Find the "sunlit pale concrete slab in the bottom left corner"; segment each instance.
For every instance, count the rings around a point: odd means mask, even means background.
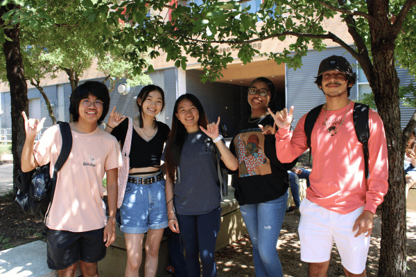
[[[35,242],[0,251],[0,276],[2,277],[55,277],[58,271],[46,265],[46,242]],[[80,267],[76,277],[82,276]]]

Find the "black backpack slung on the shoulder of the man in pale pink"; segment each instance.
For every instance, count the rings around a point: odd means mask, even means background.
[[[22,211],[28,215],[43,217],[46,222],[49,203],[53,200],[55,193],[58,171],[67,161],[72,148],[71,127],[66,122],[58,121],[62,136],[62,148],[58,160],[53,168],[52,178],[49,175],[50,163],[38,166],[30,172],[22,172],[17,176],[17,191],[15,202]]]

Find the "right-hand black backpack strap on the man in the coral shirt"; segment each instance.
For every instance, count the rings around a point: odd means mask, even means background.
[[[365,162],[365,179],[368,179],[369,170],[368,170],[368,139],[370,138],[370,126],[368,125],[368,105],[361,103],[354,104],[354,112],[352,118],[354,119],[354,128],[356,131],[357,139],[359,142],[363,143],[363,152],[364,152],[364,162]]]

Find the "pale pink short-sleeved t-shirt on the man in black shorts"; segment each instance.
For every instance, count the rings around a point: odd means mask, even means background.
[[[62,146],[59,125],[46,129],[35,145],[34,155],[41,166],[58,159]],[[84,232],[105,226],[103,177],[106,170],[123,164],[119,143],[114,136],[96,128],[80,134],[72,131],[72,148],[58,172],[53,203],[46,226],[54,230]]]

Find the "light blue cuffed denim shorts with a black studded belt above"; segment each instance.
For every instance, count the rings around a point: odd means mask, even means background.
[[[123,233],[146,233],[168,226],[165,180],[142,185],[127,183],[120,207]]]

